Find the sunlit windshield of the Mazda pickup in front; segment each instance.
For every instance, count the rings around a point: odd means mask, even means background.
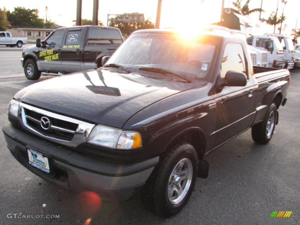
[[[137,33],[116,50],[106,65],[118,64],[146,76],[209,81],[216,43],[211,36],[191,40],[176,33]]]

